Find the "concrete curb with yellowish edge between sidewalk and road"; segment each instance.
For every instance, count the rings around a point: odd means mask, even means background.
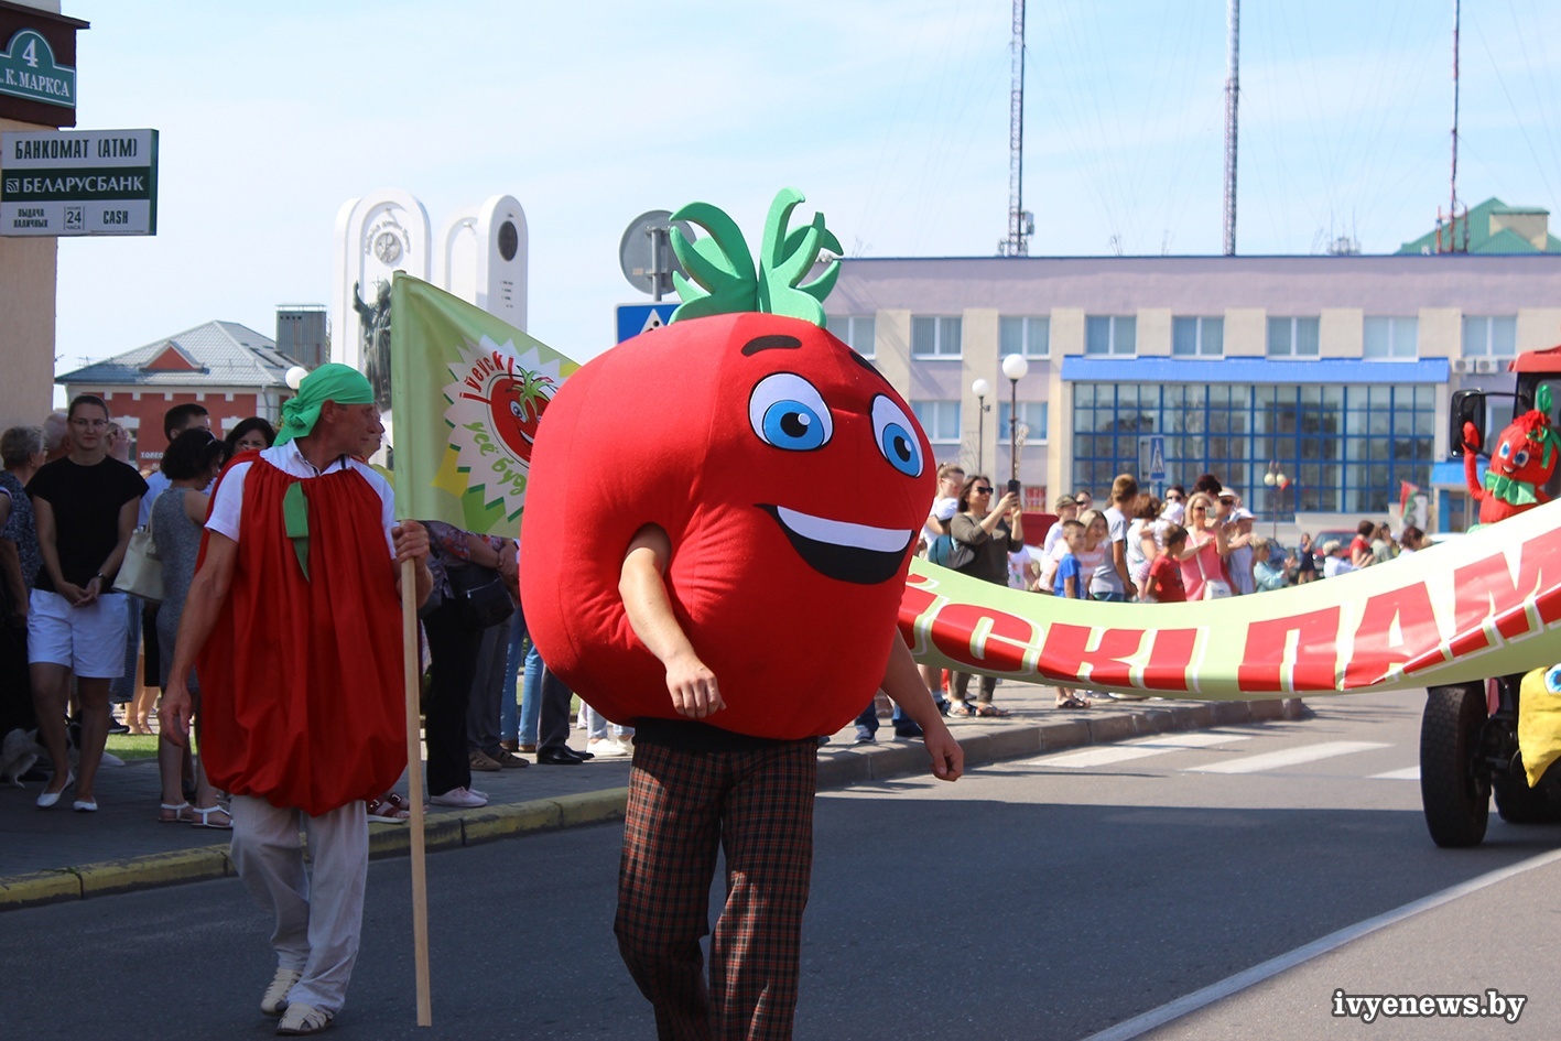
[[[1063,748],[1104,744],[1168,730],[1200,730],[1214,726],[1303,719],[1310,713],[1300,698],[1266,701],[1143,702],[1130,710],[1088,718],[999,726],[960,737],[965,765],[979,766],[1008,759],[1040,755]],[[848,746],[818,763],[818,787],[845,788],[865,780],[887,780],[927,769],[927,754],[918,743]],[[440,813],[425,819],[426,847],[432,851],[479,846],[503,838],[621,821],[628,788],[584,791],[554,799],[534,799],[481,810]],[[368,826],[368,855],[375,860],[406,855],[411,832],[398,824]],[[0,876],[0,913],[61,901],[80,901],[112,893],[153,890],[184,882],[204,882],[236,874],[228,846],[201,846],[167,854],[105,860],[101,863]]]

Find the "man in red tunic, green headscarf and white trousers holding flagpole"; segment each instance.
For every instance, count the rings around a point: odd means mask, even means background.
[[[406,766],[398,565],[417,562],[420,604],[432,576],[428,534],[395,523],[390,485],[356,457],[382,431],[368,381],[322,365],[283,406],[276,445],[229,464],[159,710],[183,743],[198,666],[201,755],[233,793],[233,863],[276,916],[261,1011],[283,1016],[283,1035],[325,1030],[342,1007],[368,874],[364,799]]]

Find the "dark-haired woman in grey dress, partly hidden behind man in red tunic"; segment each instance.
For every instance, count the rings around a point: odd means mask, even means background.
[[[167,690],[173,666],[173,641],[184,616],[184,598],[195,579],[195,559],[200,556],[200,540],[211,512],[206,485],[222,471],[223,446],[211,431],[195,428],[173,439],[162,453],[162,476],[169,487],[151,504],[150,532],[158,557],[162,560],[162,602],[158,606],[158,668],[159,685]],[[200,719],[200,682],[195,671],[189,674],[189,691]],[[200,730],[197,730],[197,735]],[[195,805],[184,799],[184,757],[190,755],[190,771],[195,776]],[[162,824],[194,824],[195,827],[233,829],[233,818],[217,802],[217,790],[206,780],[206,768],[200,755],[189,746],[173,741],[158,743],[158,773],[162,777],[162,804],[158,821]]]

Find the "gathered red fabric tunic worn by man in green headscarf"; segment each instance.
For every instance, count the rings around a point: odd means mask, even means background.
[[[233,587],[195,668],[211,782],[317,816],[406,768],[401,607],[379,495],[353,470],[301,481],[304,577],[283,521],[300,481],[250,467]]]

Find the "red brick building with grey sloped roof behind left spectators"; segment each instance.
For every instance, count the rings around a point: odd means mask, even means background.
[[[131,459],[153,470],[169,446],[162,414],[198,401],[222,437],[240,420],[259,415],[272,425],[292,396],[286,375],[297,362],[275,340],[237,322],[208,322],[133,351],[58,376],[66,396],[95,393],[131,435]]]

